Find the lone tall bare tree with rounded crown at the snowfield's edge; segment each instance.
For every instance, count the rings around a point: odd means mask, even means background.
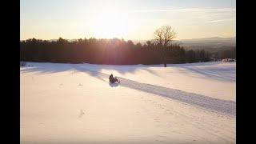
[[[162,48],[162,61],[166,67],[166,47],[170,46],[176,33],[171,26],[162,26],[154,31],[154,42]]]

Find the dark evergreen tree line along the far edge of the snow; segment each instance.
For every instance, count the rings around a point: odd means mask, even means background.
[[[160,48],[152,42],[134,44],[123,39],[78,39],[69,42],[27,39],[20,42],[20,58],[25,62],[62,62],[94,64],[162,64],[207,62],[210,55],[205,50],[184,50],[182,46],[170,45]],[[164,60],[163,60],[164,59]]]

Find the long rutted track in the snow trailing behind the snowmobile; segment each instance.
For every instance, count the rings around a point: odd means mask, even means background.
[[[126,78],[118,78],[120,86],[126,86],[134,90],[142,90],[147,93],[157,94],[166,98],[172,98],[185,102],[192,106],[199,106],[207,110],[214,110],[230,116],[236,115],[236,102],[211,98],[201,94],[193,94],[181,90],[174,90],[162,86],[155,86],[146,83],[132,81]]]

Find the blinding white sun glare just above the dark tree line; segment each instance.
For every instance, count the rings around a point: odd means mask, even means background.
[[[94,19],[97,38],[122,38],[128,31],[126,16],[118,10],[102,10]]]

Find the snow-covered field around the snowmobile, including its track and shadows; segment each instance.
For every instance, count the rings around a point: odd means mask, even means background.
[[[234,62],[27,64],[22,143],[235,143]]]

